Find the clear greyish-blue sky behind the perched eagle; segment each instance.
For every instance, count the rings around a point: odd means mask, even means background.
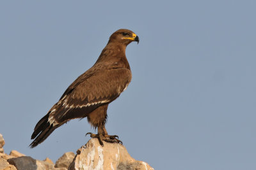
[[[256,1],[1,1],[0,133],[35,159],[76,152],[72,120],[34,149],[33,129],[109,36],[131,29],[132,81],[109,134],[155,169],[256,169]]]

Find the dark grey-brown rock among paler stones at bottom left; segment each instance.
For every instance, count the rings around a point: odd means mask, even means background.
[[[7,160],[9,164],[15,166],[19,170],[36,170],[36,160],[31,157],[17,157]]]

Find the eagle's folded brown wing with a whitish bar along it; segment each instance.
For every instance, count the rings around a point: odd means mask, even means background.
[[[82,74],[49,111],[50,124],[86,117],[99,106],[120,96],[130,81],[131,71],[124,68],[108,69],[90,76]]]

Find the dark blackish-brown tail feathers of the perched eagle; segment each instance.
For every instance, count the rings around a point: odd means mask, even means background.
[[[35,139],[29,146],[34,148],[38,144],[42,143],[57,127],[60,125],[53,125],[48,122],[49,113],[45,115],[36,124],[31,139]]]

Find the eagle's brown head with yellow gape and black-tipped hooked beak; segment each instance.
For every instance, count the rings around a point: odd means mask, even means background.
[[[110,38],[109,42],[122,43],[124,45],[129,45],[132,41],[137,41],[139,43],[139,37],[129,29],[119,29],[114,32]]]

